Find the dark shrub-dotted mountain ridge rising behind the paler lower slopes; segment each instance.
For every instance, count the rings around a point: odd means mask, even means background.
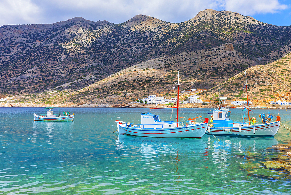
[[[136,15],[121,24],[75,17],[1,26],[0,93],[41,93],[57,86],[75,91],[153,59],[165,74],[180,66],[189,71],[193,87],[210,89],[217,77],[227,80],[284,57],[291,50],[290,29],[215,10],[200,11],[181,23]],[[165,64],[164,56],[172,56],[171,61]]]

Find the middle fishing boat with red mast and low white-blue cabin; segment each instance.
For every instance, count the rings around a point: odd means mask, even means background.
[[[204,122],[195,123],[194,121],[179,122],[179,72],[177,84],[177,117],[176,121],[162,121],[159,115],[141,113],[141,124],[133,124],[116,120],[119,134],[143,137],[158,138],[202,138],[205,134],[208,118]],[[175,88],[175,87],[174,87]],[[157,109],[157,108],[154,108]],[[190,119],[191,120],[191,119]]]

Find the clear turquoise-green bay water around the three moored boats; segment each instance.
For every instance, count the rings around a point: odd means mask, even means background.
[[[0,194],[291,194],[282,172],[266,169],[270,178],[240,167],[272,161],[277,153],[267,148],[291,140],[282,127],[274,138],[144,138],[112,132],[117,116],[137,123],[149,109],[66,111],[74,122],[33,121],[43,108],[0,108]],[[186,118],[210,116],[210,109],[183,111]],[[240,109],[231,111],[239,120]],[[267,112],[255,109],[254,116]],[[291,127],[291,110],[272,112]],[[166,109],[152,113],[170,117]]]

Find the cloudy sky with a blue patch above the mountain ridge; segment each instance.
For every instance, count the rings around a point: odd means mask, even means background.
[[[119,24],[138,14],[179,23],[205,9],[238,12],[277,26],[291,25],[290,0],[0,0],[0,26],[51,24],[74,17]]]

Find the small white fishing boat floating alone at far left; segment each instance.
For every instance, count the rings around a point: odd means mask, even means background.
[[[75,114],[70,115],[70,112],[63,112],[63,115],[59,114],[56,116],[54,115],[54,111],[52,111],[52,107],[46,109],[49,109],[49,111],[47,111],[45,116],[33,113],[34,121],[74,121]]]

